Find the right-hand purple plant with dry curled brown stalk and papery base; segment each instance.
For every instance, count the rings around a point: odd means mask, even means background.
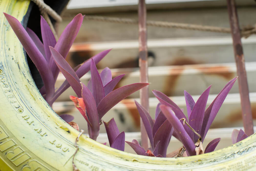
[[[208,87],[202,93],[196,103],[191,95],[188,92],[184,91],[188,111],[188,119],[186,118],[182,110],[165,94],[157,90],[153,90],[154,95],[161,103],[160,109],[174,128],[173,135],[183,143],[188,156],[196,155],[195,149],[196,147],[200,146],[199,143],[197,144],[197,142],[202,143],[204,141],[210,125],[212,124],[223,101],[225,100],[236,79],[237,77],[226,84],[226,86],[220,91],[220,93],[206,110],[205,107],[210,87]],[[193,132],[192,129],[185,123],[190,125],[196,133]],[[219,141],[220,138],[212,140],[205,148],[204,153],[214,151]]]

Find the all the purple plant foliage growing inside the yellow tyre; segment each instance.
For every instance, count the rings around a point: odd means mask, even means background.
[[[71,86],[77,94],[77,97],[70,96],[70,99],[86,120],[90,138],[93,140],[97,139],[100,125],[103,122],[110,146],[124,151],[124,132],[120,133],[114,118],[109,122],[104,122],[102,117],[114,105],[135,91],[147,86],[148,83],[134,83],[113,90],[124,74],[112,79],[112,74],[108,67],[103,69],[99,74],[95,65],[95,63],[98,63],[108,54],[110,49],[95,55],[74,69],[70,67],[65,58],[81,27],[83,21],[82,14],[78,14],[73,18],[58,41],[55,40],[45,19],[41,17],[41,35],[43,42],[40,41],[31,29],[27,28],[26,31],[16,18],[6,13],[4,13],[4,15],[27,54],[37,67],[44,82],[44,86],[40,89],[40,92],[49,105],[51,106],[59,95]],[[91,70],[91,79],[86,86],[79,78],[89,70]],[[62,72],[66,80],[59,89],[55,91],[54,85],[59,71]],[[237,77],[226,84],[206,110],[206,103],[211,86],[201,94],[197,102],[194,101],[187,91],[184,91],[188,118],[186,118],[183,110],[165,94],[153,90],[153,94],[160,102],[156,108],[155,120],[151,118],[149,112],[143,106],[135,101],[138,112],[145,125],[151,147],[144,149],[137,140],[133,140],[132,142],[126,141],[126,143],[139,155],[166,157],[167,147],[173,135],[183,143],[182,149],[180,149],[178,154],[176,153],[177,157],[181,157],[183,154],[184,156],[193,156],[214,151],[220,142],[220,138],[212,140],[206,146],[205,150],[203,149],[202,143],[236,79]],[[72,116],[61,115],[61,117],[72,127],[79,130],[78,125],[72,122]],[[248,136],[242,130],[234,130],[232,132],[233,143],[239,142],[246,137]]]

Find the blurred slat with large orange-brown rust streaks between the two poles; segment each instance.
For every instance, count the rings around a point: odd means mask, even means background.
[[[254,80],[256,73],[255,66],[256,62],[246,63],[250,92],[256,92],[256,82]],[[158,90],[168,96],[183,95],[184,90],[192,95],[201,94],[211,84],[210,93],[218,94],[229,80],[237,76],[235,63],[150,67],[148,73],[149,82],[151,83],[149,90]],[[139,82],[138,68],[112,69],[113,77],[120,74],[126,74],[126,76],[120,81],[117,87]],[[87,85],[89,79],[90,73],[87,73],[80,80]],[[55,87],[59,87],[64,80],[65,77],[59,74]],[[239,92],[237,83],[234,84],[230,92]],[[71,88],[66,90],[58,98],[58,101],[69,100],[69,95],[75,95]],[[129,97],[138,98],[139,92],[135,92]],[[154,97],[151,91],[150,97]]]

